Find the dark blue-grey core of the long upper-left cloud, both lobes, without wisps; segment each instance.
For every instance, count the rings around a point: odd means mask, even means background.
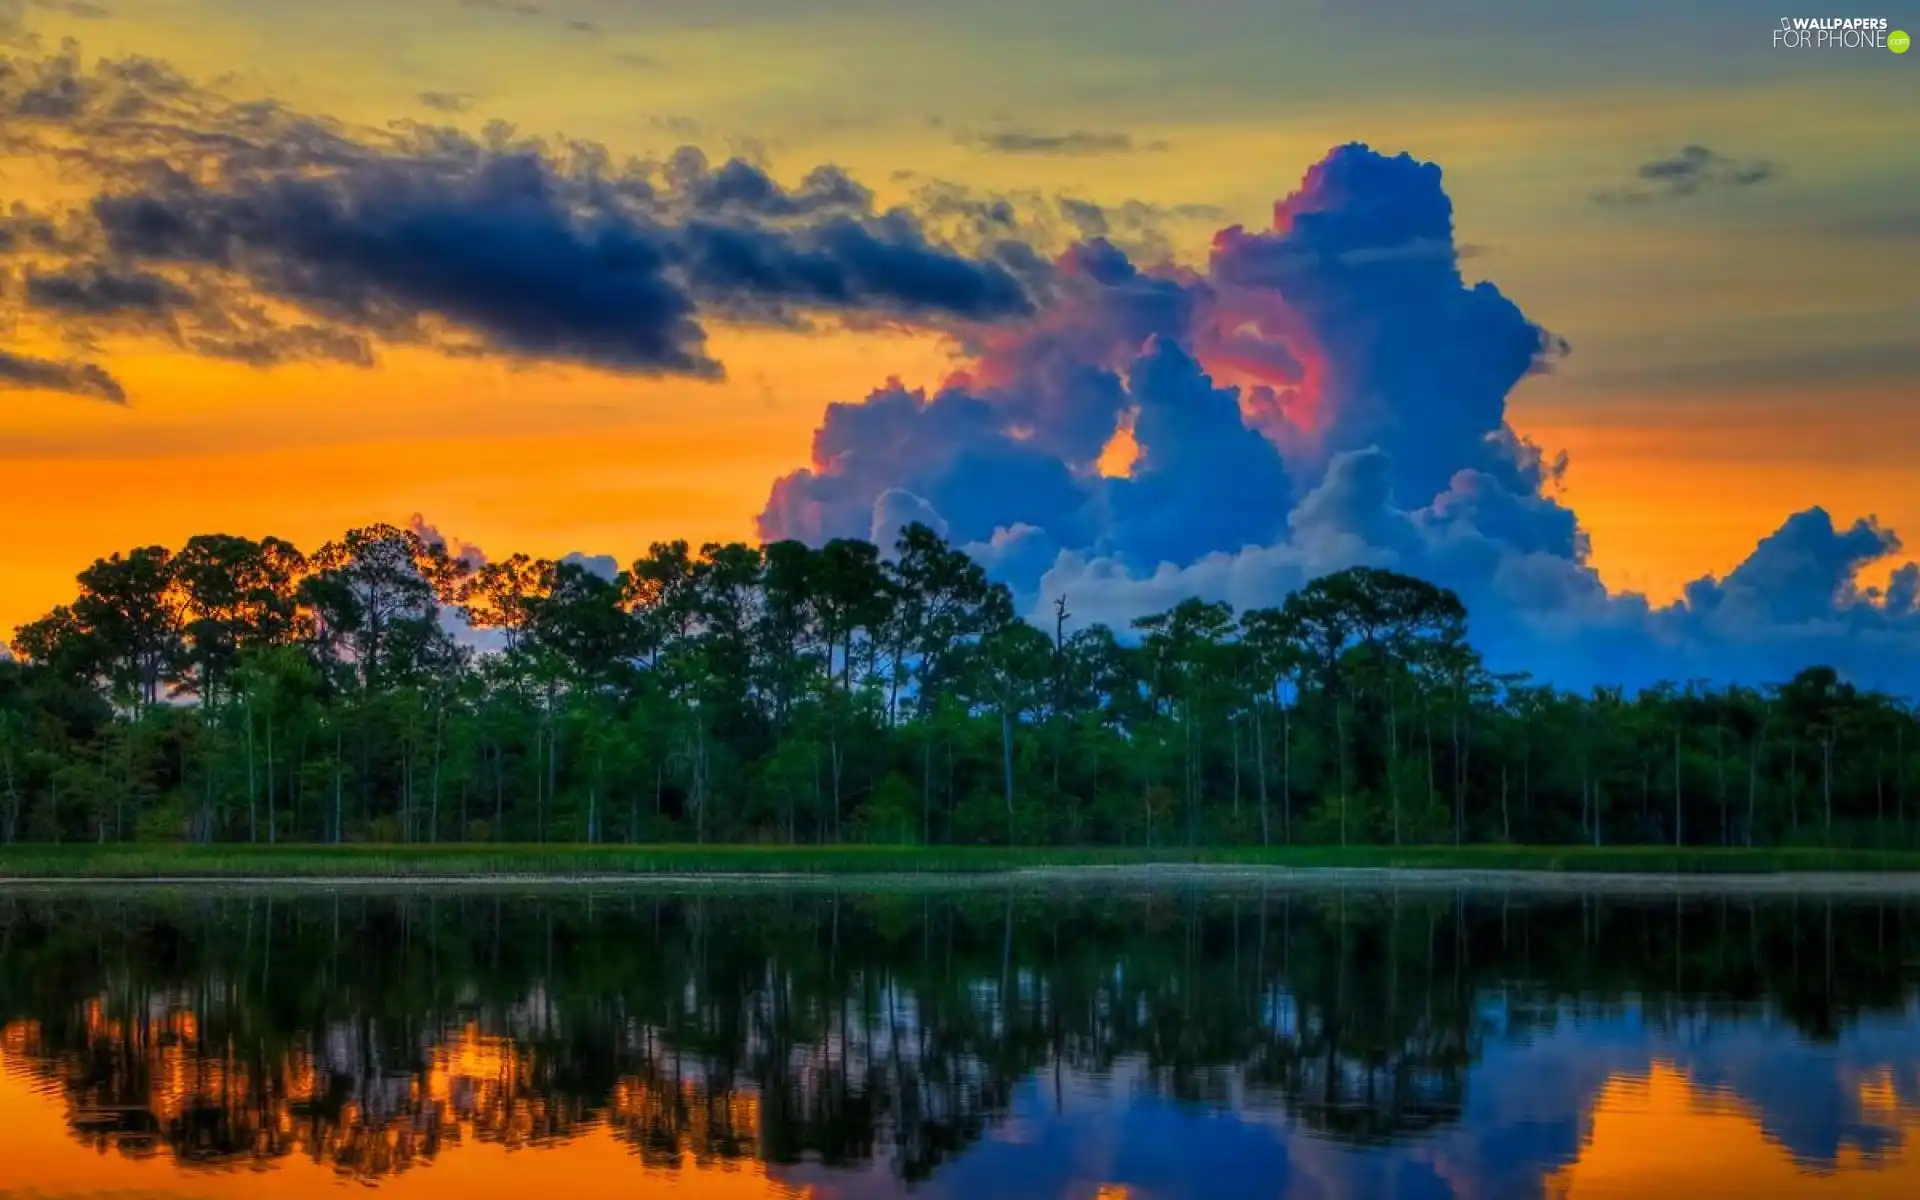
[[[117,259],[238,275],[380,340],[465,336],[470,349],[614,371],[716,374],[703,309],[780,323],[1029,311],[1010,271],[931,244],[904,213],[874,213],[835,171],[787,190],[747,163],[682,156],[662,194],[536,152],[444,167],[372,159],[227,188],[173,179],[104,196],[94,215]]]

